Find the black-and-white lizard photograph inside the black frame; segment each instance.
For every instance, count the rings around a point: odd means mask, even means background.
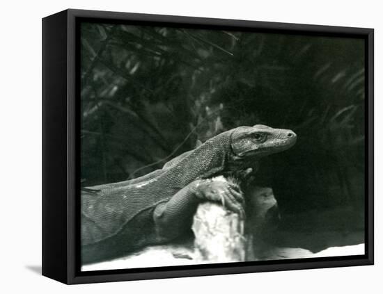
[[[83,20],[81,272],[366,254],[366,40]]]

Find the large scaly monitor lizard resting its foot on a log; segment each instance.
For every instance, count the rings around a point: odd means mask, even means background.
[[[222,202],[244,217],[242,195],[210,178],[251,168],[263,156],[289,149],[293,131],[240,126],[173,158],[137,179],[81,190],[81,263],[123,256],[189,231],[198,203]]]

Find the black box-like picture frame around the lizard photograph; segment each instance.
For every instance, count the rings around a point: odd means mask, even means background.
[[[81,21],[152,24],[238,31],[357,37],[366,48],[366,248],[364,255],[253,261],[127,270],[79,270],[79,31]],[[373,37],[372,28],[253,22],[168,15],[64,10],[42,19],[42,275],[65,284],[160,279],[245,272],[372,265]]]

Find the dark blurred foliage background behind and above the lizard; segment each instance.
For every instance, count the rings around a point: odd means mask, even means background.
[[[81,24],[81,178],[139,177],[226,129],[298,135],[258,184],[282,209],[364,208],[364,40]]]

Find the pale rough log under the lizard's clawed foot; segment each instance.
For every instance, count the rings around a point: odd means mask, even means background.
[[[246,221],[218,203],[205,202],[198,206],[192,224],[196,262],[222,263],[264,258],[269,245],[264,242],[263,235],[270,233],[266,229],[266,214],[276,206],[272,188],[256,186],[247,190],[247,205],[249,215]]]

